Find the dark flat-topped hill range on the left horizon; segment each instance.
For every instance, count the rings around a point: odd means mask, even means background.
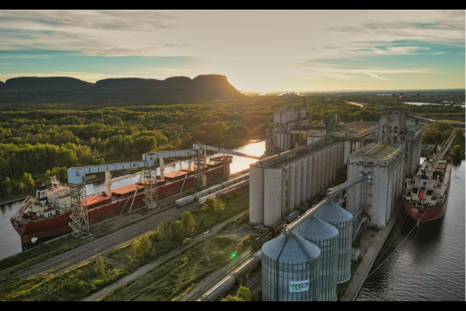
[[[0,84],[0,103],[132,103],[170,104],[227,100],[243,96],[226,76],[209,74],[194,79],[116,78],[89,83],[69,77],[19,77]],[[5,91],[6,90],[6,91]]]

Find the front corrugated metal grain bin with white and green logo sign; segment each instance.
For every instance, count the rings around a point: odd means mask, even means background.
[[[319,248],[293,234],[262,246],[263,301],[317,301]]]

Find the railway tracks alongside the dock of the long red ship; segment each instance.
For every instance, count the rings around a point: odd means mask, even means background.
[[[17,272],[14,276],[25,278],[37,276],[46,272],[56,271],[70,265],[91,259],[94,256],[107,252],[123,242],[136,238],[150,230],[155,229],[159,224],[181,217],[185,211],[195,211],[199,209],[197,202],[188,204],[181,208],[171,208],[165,212],[154,215],[136,224],[106,235],[98,240],[86,243],[67,253],[58,255],[44,262],[33,265],[30,269]]]

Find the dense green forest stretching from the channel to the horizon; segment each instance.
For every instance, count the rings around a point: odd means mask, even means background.
[[[361,109],[346,101],[367,104]],[[237,146],[264,137],[276,108],[297,104],[309,105],[315,123],[334,113],[340,113],[343,122],[378,121],[380,105],[434,119],[465,120],[465,110],[459,106],[413,106],[396,98],[357,94],[309,94],[306,100],[242,96],[169,105],[0,104],[0,195],[22,194],[52,174],[65,182],[66,168],[71,166],[140,159],[146,152],[188,148],[195,141]],[[449,130],[448,124],[429,129],[425,142],[441,142]],[[463,155],[464,136],[458,136],[458,142]]]

